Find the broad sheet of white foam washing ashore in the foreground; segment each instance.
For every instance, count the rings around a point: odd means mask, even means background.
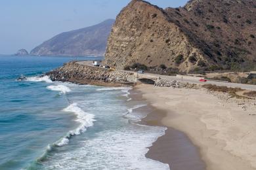
[[[58,152],[45,169],[169,170],[169,165],[145,157],[148,147],[165,134],[165,127],[138,126],[101,131],[79,149]]]

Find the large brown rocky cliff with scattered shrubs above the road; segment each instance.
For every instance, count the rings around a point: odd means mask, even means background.
[[[192,0],[160,9],[133,0],[116,18],[105,63],[184,72],[251,69],[256,64],[256,1]]]

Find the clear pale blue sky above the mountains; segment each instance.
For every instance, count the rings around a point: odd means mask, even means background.
[[[187,0],[148,0],[154,5],[182,7]],[[130,0],[0,0],[0,54],[30,52],[51,37],[115,19]]]

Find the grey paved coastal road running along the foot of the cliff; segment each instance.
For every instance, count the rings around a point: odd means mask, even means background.
[[[81,65],[87,65],[87,66],[92,66],[93,67],[93,63],[91,61],[77,61],[77,63],[81,64]],[[123,71],[123,70],[120,70]],[[123,71],[126,73],[134,73],[137,74],[137,72],[135,71]],[[138,74],[139,78],[150,78],[150,79],[156,79],[161,77],[162,79],[166,79],[166,80],[177,80],[179,82],[188,82],[188,83],[192,83],[192,84],[214,84],[217,86],[227,86],[229,88],[242,88],[244,90],[252,90],[252,91],[256,91],[256,85],[250,85],[250,84],[238,84],[238,83],[232,83],[232,82],[219,82],[219,81],[207,81],[207,82],[200,82],[199,80],[192,80],[190,78],[179,78],[177,76],[165,76],[165,75],[154,75],[151,73],[144,73],[144,74]]]

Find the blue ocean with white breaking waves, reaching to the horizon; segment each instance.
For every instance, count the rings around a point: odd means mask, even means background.
[[[95,58],[0,56],[0,169],[169,169],[145,157],[165,127],[137,123],[131,88],[39,77],[74,59]]]

